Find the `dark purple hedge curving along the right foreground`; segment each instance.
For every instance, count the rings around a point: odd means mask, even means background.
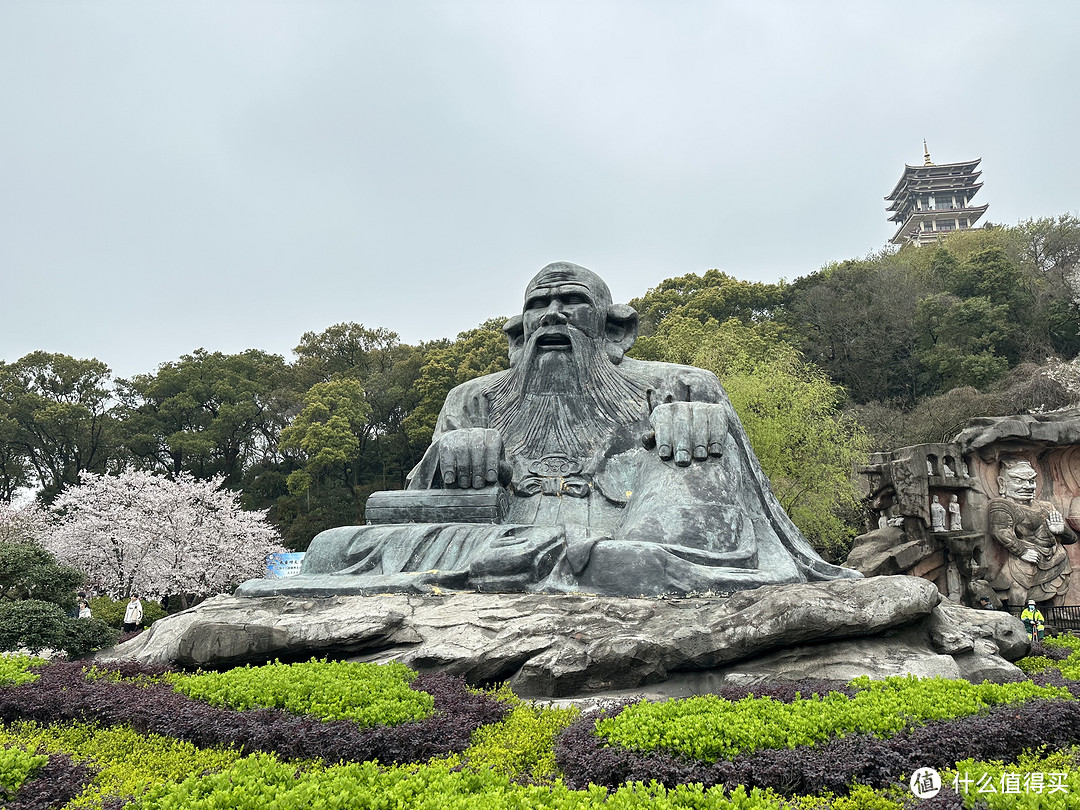
[[[1028,748],[1056,750],[1080,742],[1080,701],[1075,700],[1029,700],[908,728],[888,739],[850,734],[814,746],[762,748],[712,764],[665,751],[642,753],[608,745],[595,733],[596,721],[595,714],[583,717],[556,743],[555,760],[571,786],[656,779],[667,786],[700,782],[772,788],[785,795],[819,791],[843,795],[854,782],[880,788],[924,766],[941,769],[971,757],[1013,761]]]

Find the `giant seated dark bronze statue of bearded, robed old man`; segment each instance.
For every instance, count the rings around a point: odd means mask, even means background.
[[[504,330],[510,369],[449,393],[400,494],[495,491],[504,522],[432,522],[453,519],[440,511],[330,529],[300,576],[238,594],[638,595],[861,576],[821,559],[792,524],[714,375],[625,356],[637,313],[597,275],[549,265]]]

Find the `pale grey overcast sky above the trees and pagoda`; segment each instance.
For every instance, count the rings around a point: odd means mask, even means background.
[[[416,342],[880,249],[904,164],[1080,207],[1080,3],[0,0],[0,360]]]

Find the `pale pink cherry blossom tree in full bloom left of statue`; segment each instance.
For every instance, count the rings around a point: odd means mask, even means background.
[[[262,576],[267,554],[282,549],[266,513],[242,510],[220,484],[83,473],[53,503],[60,517],[45,545],[113,596],[222,593]]]

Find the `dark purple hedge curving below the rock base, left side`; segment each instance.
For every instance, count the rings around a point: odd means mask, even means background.
[[[160,674],[137,665],[123,672]],[[349,720],[321,721],[275,708],[220,708],[180,694],[166,683],[87,679],[80,665],[55,662],[40,670],[32,684],[0,689],[0,720],[126,725],[202,747],[234,744],[291,759],[409,762],[463,751],[476,728],[502,719],[508,711],[448,675],[421,675],[411,686],[433,698],[431,717],[362,729]]]

